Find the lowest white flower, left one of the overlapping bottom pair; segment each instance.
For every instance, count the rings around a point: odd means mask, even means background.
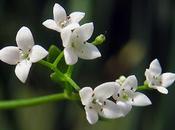
[[[90,87],[79,91],[90,124],[98,121],[98,114],[109,119],[123,116],[121,107],[108,99],[114,94],[115,85],[116,82],[107,82],[97,86],[94,91]]]

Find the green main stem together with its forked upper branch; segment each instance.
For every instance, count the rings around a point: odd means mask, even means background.
[[[63,74],[58,68],[57,64],[63,57],[63,52],[57,57],[55,62],[52,64],[45,60],[39,61],[39,63],[47,68],[53,70],[57,75],[58,78],[65,79],[70,85],[72,85],[77,91],[79,91],[79,86],[69,77],[69,73],[71,73],[71,68],[68,69],[68,75]],[[70,71],[70,72],[69,72]],[[52,94],[47,96],[35,97],[30,99],[17,99],[11,101],[0,101],[0,109],[15,109],[20,107],[29,107],[29,106],[36,106],[50,102],[56,102],[61,100],[79,100],[80,97],[76,93],[59,93],[59,94]]]

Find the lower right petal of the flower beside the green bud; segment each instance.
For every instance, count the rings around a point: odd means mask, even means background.
[[[91,43],[79,45],[78,49],[76,49],[76,53],[78,57],[86,60],[101,57],[101,53],[99,52],[98,48]]]

